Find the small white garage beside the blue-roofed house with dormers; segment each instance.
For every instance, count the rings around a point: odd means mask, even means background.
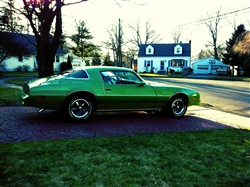
[[[217,74],[217,70],[228,70],[228,65],[215,58],[204,58],[191,63],[194,74]]]

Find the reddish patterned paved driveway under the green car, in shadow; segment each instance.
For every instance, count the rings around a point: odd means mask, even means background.
[[[95,113],[88,121],[65,120],[59,112],[38,113],[31,107],[0,108],[0,142],[59,140],[122,136],[160,132],[231,128],[227,125],[186,115],[179,119],[146,112]]]

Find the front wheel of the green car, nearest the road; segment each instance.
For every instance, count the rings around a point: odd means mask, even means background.
[[[183,96],[176,96],[169,100],[165,112],[170,117],[179,118],[187,111],[187,101]]]

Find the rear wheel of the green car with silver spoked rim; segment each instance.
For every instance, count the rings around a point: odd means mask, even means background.
[[[77,122],[86,121],[93,114],[93,101],[84,95],[73,95],[70,97],[64,110],[67,116]]]

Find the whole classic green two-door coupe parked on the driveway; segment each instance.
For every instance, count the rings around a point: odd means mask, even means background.
[[[24,106],[60,110],[75,121],[84,121],[95,111],[160,111],[182,117],[188,106],[200,103],[195,90],[151,85],[131,69],[105,66],[31,80],[23,85],[21,98]]]

